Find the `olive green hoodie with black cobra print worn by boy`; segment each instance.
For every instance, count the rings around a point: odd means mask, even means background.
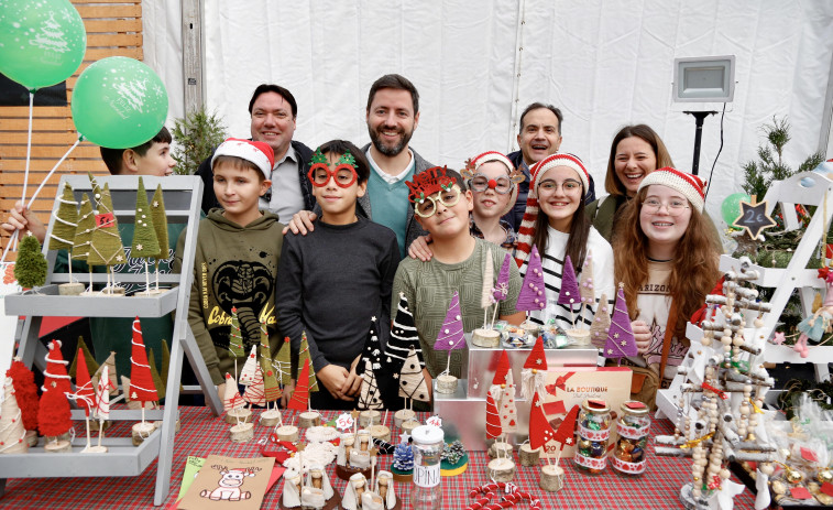
[[[199,223],[188,323],[215,384],[224,382],[226,372],[234,375],[234,358],[228,350],[232,307],[238,311],[246,355],[260,344],[261,321],[266,323],[273,356],[281,346],[275,281],[284,226],[274,213],[262,213],[261,218],[241,227],[215,208]],[[185,236],[179,236],[177,267],[184,242]],[[245,358],[238,360],[238,373],[243,362]]]

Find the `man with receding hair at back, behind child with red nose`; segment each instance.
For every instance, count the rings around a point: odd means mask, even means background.
[[[561,147],[561,123],[563,120],[565,116],[561,110],[544,102],[533,102],[520,113],[520,129],[517,135],[520,150],[511,152],[506,156],[516,169],[524,172],[526,178],[518,184],[515,207],[502,218],[515,231],[520,227],[520,220],[524,218],[524,210],[526,209],[526,198],[529,195],[529,181],[531,181],[529,169],[548,155],[558,152],[558,148]],[[591,175],[584,202],[590,204],[593,200],[595,200],[595,186]]]

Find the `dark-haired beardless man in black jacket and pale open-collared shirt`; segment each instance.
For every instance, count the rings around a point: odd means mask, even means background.
[[[272,187],[260,198],[260,208],[275,213],[286,224],[292,215],[315,207],[313,188],[307,178],[313,150],[293,140],[298,104],[292,93],[280,85],[261,84],[249,101],[252,117],[252,140],[265,142],[274,151]],[[211,158],[200,163],[197,175],[202,178],[202,210],[219,207],[213,192]]]

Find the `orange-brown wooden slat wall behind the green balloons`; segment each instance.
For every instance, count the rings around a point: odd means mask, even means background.
[[[87,30],[87,52],[80,67],[66,80],[66,107],[34,107],[32,115],[32,154],[29,165],[29,199],[50,170],[75,143],[73,115],[69,111],[75,82],[88,65],[108,56],[129,56],[143,59],[142,53],[142,3],[141,0],[72,0],[84,20]],[[21,198],[26,162],[29,107],[0,107],[0,219]],[[48,223],[52,200],[62,175],[107,175],[98,145],[79,144],[62,163],[40,193],[32,210]],[[9,236],[0,232],[0,246],[6,248]],[[14,259],[14,253],[7,257]]]

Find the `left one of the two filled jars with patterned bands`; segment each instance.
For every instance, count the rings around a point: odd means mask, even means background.
[[[573,460],[591,474],[607,467],[607,438],[611,436],[611,408],[600,399],[588,399],[579,413],[579,445]]]

